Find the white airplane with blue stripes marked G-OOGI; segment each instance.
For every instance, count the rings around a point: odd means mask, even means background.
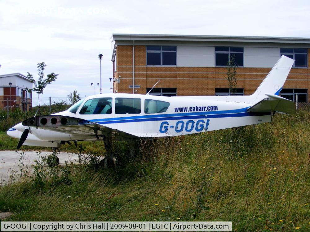
[[[68,110],[29,118],[9,129],[21,145],[104,140],[104,166],[113,164],[112,140],[134,141],[270,122],[275,112],[295,113],[293,101],[278,94],[294,63],[282,56],[250,96],[186,96],[107,93],[87,97]],[[132,153],[132,147],[131,153]]]

